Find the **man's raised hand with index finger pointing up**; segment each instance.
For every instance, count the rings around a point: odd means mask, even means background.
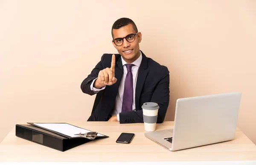
[[[93,87],[99,89],[106,85],[115,84],[117,81],[117,79],[115,78],[115,65],[116,56],[112,55],[111,67],[99,71],[98,78],[96,79],[96,81],[94,81]]]

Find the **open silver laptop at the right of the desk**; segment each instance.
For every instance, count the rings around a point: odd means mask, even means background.
[[[173,129],[145,136],[170,151],[233,140],[240,100],[241,92],[179,98]]]

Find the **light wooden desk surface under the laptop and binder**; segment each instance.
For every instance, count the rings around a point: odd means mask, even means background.
[[[232,141],[169,151],[144,136],[143,123],[67,122],[109,136],[61,152],[15,136],[15,127],[0,143],[0,162],[151,162],[151,161],[256,161],[256,145],[239,129]],[[25,123],[19,123],[25,124]],[[157,124],[157,130],[174,122]],[[131,144],[116,143],[120,133],[135,133]]]

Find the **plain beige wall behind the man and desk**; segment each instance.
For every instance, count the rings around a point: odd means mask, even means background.
[[[21,121],[87,120],[95,96],[80,84],[103,53],[116,53],[120,17],[169,68],[166,120],[177,98],[241,91],[238,127],[256,143],[255,0],[0,0],[0,142]]]

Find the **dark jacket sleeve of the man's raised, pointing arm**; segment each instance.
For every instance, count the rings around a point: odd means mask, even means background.
[[[105,55],[105,54],[104,54]],[[83,93],[94,95],[97,92],[93,92],[90,89],[90,84],[93,82],[95,78],[98,77],[99,71],[101,71],[103,68],[102,61],[104,59],[104,55],[102,55],[101,61],[95,66],[95,68],[91,71],[90,75],[87,76],[87,78],[84,79],[84,81],[81,84],[81,90]]]

